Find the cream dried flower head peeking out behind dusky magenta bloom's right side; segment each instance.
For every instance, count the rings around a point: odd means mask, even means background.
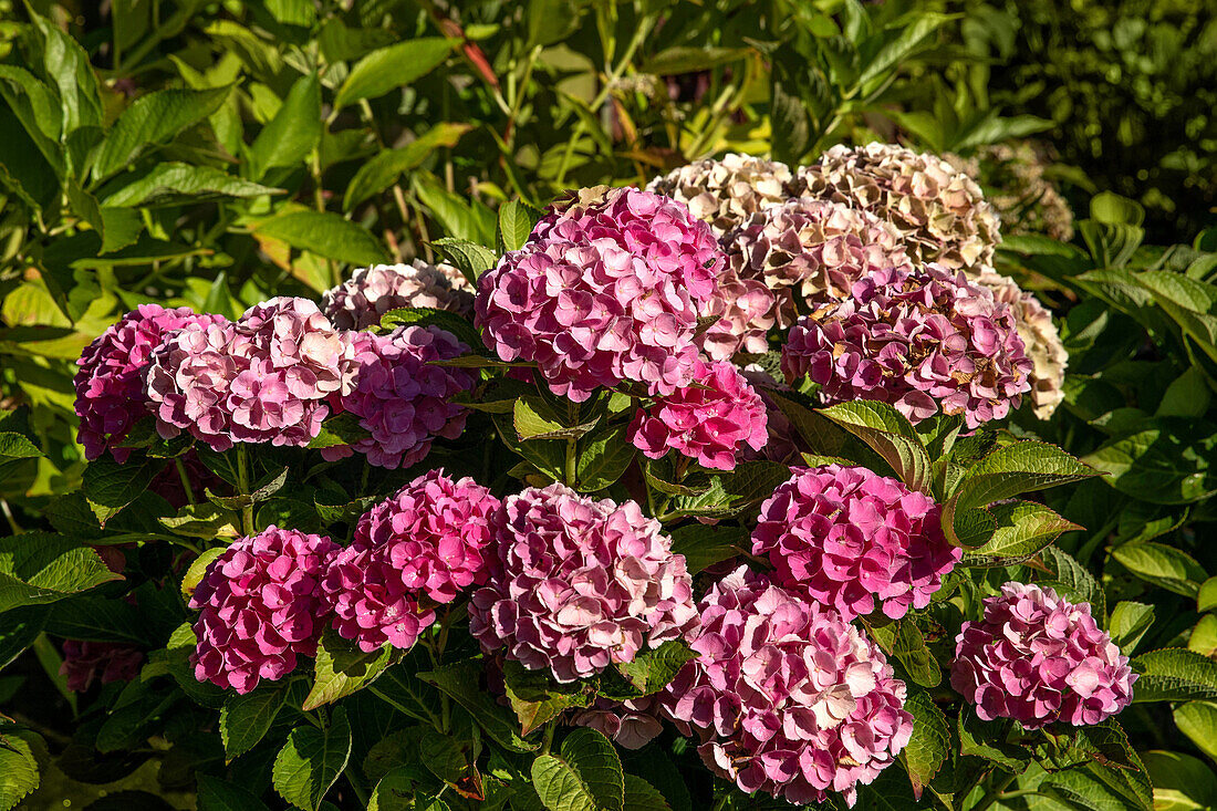
[[[1061,342],[1053,314],[1010,276],[981,265],[975,280],[993,291],[993,297],[1014,311],[1019,337],[1031,358],[1031,410],[1047,420],[1065,399],[1065,369],[1069,352]]]

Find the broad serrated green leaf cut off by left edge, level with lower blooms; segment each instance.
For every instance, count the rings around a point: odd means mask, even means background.
[[[0,611],[54,603],[120,575],[88,546],[50,532],[0,538]]]

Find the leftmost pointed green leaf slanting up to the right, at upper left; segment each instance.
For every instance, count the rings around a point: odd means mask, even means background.
[[[129,166],[148,145],[169,140],[219,110],[231,85],[206,90],[169,88],[140,96],[106,134],[92,163],[94,180]]]

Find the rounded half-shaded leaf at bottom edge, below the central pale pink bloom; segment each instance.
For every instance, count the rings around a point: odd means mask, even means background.
[[[533,788],[549,811],[623,811],[626,777],[612,744],[595,729],[570,733],[560,754],[532,765]]]

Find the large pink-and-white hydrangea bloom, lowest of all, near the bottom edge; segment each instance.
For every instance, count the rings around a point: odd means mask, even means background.
[[[699,658],[661,694],[701,736],[702,760],[741,790],[803,805],[857,800],[909,742],[904,682],[830,608],[741,566],[701,599]]]

